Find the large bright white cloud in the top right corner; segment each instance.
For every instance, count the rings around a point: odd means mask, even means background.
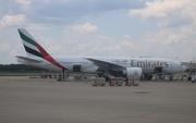
[[[188,25],[196,19],[194,0],[156,0],[146,2],[144,9],[132,9],[130,16],[140,15],[144,20],[157,21],[158,26]]]

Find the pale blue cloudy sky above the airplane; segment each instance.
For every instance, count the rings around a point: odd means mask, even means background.
[[[196,58],[195,0],[0,0],[0,64],[26,56],[17,28],[50,54]]]

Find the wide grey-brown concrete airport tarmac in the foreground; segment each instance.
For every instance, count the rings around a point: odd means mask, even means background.
[[[196,123],[196,83],[94,87],[0,76],[0,123]]]

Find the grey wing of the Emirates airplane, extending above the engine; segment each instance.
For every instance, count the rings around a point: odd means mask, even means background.
[[[91,58],[86,58],[87,60],[94,62],[97,66],[99,66],[99,70],[122,70],[124,66],[121,66],[119,64],[110,63],[107,61],[96,60]]]

